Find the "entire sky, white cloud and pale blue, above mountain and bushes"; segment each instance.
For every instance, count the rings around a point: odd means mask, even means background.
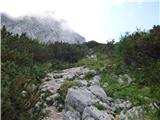
[[[87,41],[102,43],[160,24],[159,0],[0,0],[0,12],[14,17],[54,13]]]

